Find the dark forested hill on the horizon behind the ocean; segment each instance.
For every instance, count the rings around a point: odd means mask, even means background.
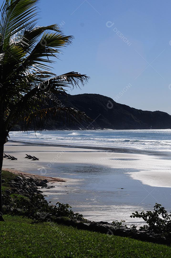
[[[171,116],[161,111],[143,111],[119,104],[99,94],[68,95],[60,99],[62,105],[74,107],[86,113],[93,121],[77,122],[74,125],[62,123],[53,129],[167,129],[171,128]],[[91,123],[91,124],[90,124]],[[46,126],[47,127],[47,126]]]

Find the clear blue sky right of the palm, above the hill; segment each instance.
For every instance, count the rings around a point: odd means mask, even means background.
[[[75,37],[54,65],[56,74],[91,77],[71,94],[97,93],[171,114],[170,1],[40,0],[39,7],[39,25],[61,24]]]

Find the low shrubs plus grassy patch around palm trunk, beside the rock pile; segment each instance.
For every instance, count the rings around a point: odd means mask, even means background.
[[[24,196],[24,191],[21,193],[12,193],[14,188],[10,187],[10,181],[15,180],[17,175],[9,171],[2,171],[2,211],[3,214],[21,215],[32,218],[34,221],[46,222],[55,221],[57,217],[65,217],[67,219],[83,221],[83,215],[74,213],[69,204],[57,202],[56,205],[51,205],[42,194]],[[6,193],[6,190],[9,193]]]

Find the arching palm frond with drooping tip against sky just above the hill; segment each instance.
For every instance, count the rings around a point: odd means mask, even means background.
[[[9,124],[15,123],[18,119],[19,114],[22,114],[24,110],[33,113],[36,109],[41,109],[53,101],[56,108],[59,104],[54,102],[52,98],[52,92],[55,96],[66,94],[66,90],[63,87],[73,87],[74,85],[79,86],[79,82],[82,86],[87,83],[88,76],[81,75],[80,73],[70,72],[63,75],[53,77],[37,87],[30,90],[27,94],[22,96],[22,98],[13,106],[10,114],[6,118],[6,130],[8,130]],[[53,95],[53,96],[54,96]],[[10,121],[13,121],[10,123]]]

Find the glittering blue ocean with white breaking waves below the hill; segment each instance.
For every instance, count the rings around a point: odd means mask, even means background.
[[[171,151],[171,129],[10,132],[10,140],[66,146]]]

